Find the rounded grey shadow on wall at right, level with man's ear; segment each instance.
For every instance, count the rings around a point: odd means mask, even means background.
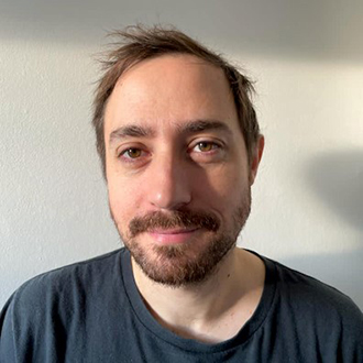
[[[362,234],[363,244],[363,148],[316,156],[307,175],[316,195]]]

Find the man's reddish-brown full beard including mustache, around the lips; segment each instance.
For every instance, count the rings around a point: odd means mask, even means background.
[[[133,218],[128,233],[123,233],[114,218],[111,217],[125,248],[152,280],[170,287],[196,285],[205,282],[218,271],[223,257],[235,246],[238,235],[251,211],[251,188],[244,193],[242,200],[232,215],[232,226],[222,227],[221,220],[212,212],[175,210],[164,213],[150,212]],[[151,248],[138,239],[143,232],[155,229],[186,228],[200,229],[206,243],[200,245],[191,240],[173,245],[153,244]]]

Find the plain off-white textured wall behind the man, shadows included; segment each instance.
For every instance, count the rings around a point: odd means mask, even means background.
[[[108,30],[174,24],[255,80],[266,147],[239,244],[363,308],[363,2],[0,0],[0,306],[120,246],[90,127]]]

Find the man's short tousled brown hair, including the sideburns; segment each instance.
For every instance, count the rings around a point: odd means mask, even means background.
[[[260,135],[256,113],[251,101],[253,86],[250,79],[229,64],[221,55],[216,54],[175,28],[155,25],[128,26],[124,30],[109,34],[118,41],[112,43],[111,51],[100,59],[103,75],[100,78],[94,101],[92,125],[96,131],[97,151],[101,158],[106,177],[106,150],[103,134],[103,116],[107,101],[120,76],[133,65],[152,57],[165,54],[190,54],[217,67],[220,67],[230,85],[234,105],[238,111],[241,131],[251,162],[254,147]]]

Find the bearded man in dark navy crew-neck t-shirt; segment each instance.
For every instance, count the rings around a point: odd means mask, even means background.
[[[264,146],[249,79],[176,30],[117,35],[94,125],[125,249],[15,292],[1,362],[363,362],[348,297],[235,246]]]

